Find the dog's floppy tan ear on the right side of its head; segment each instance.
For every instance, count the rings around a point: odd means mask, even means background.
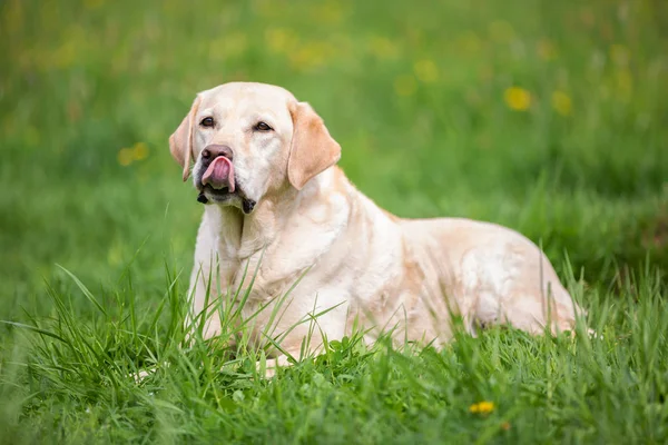
[[[341,146],[330,136],[323,119],[306,102],[292,102],[293,138],[287,178],[301,190],[311,178],[341,159]]]

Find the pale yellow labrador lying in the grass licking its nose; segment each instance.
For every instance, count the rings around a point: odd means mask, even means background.
[[[169,146],[184,180],[194,161],[205,204],[193,312],[205,309],[209,279],[210,289],[234,291],[257,270],[242,314],[256,316],[258,343],[283,333],[281,349],[298,356],[305,337],[317,350],[323,335],[341,338],[356,323],[370,342],[385,330],[399,343],[438,345],[452,335],[452,315],[472,334],[491,324],[573,328],[580,308],[533,243],[493,224],[381,209],[336,167],[341,147],[323,120],[283,88],[233,82],[200,92]],[[315,329],[301,323],[323,312]],[[210,317],[205,336],[219,330]]]

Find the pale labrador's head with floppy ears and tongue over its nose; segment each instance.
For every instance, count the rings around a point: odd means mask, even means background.
[[[232,82],[197,95],[169,138],[198,200],[248,214],[263,197],[301,190],[335,165],[341,147],[311,106],[279,87]]]

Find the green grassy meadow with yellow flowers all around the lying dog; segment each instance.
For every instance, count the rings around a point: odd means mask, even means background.
[[[666,28],[647,0],[2,2],[0,442],[666,443]],[[202,208],[167,137],[230,80],[310,101],[384,208],[541,243],[602,338],[354,336],[273,380],[186,347]]]

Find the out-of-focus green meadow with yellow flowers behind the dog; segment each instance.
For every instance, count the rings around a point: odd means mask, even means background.
[[[0,11],[0,318],[48,314],[45,279],[71,286],[56,264],[102,295],[129,269],[147,305],[165,263],[187,274],[202,207],[167,138],[233,80],[310,101],[348,177],[400,216],[504,224],[605,286],[648,257],[668,269],[664,1]]]

